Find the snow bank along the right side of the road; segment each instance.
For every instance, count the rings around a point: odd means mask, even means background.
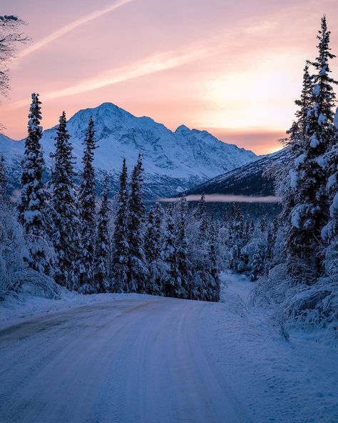
[[[282,280],[282,269],[275,276]],[[222,280],[224,307],[208,307],[211,315],[203,323],[208,356],[222,363],[220,377],[245,398],[251,421],[338,422],[334,345],[316,342],[297,328],[290,329],[287,341],[270,307],[251,304],[257,282],[236,274],[223,274]],[[210,321],[216,323],[210,326]]]

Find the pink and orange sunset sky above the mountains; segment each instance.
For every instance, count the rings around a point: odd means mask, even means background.
[[[43,127],[63,109],[111,101],[170,129],[207,129],[257,154],[280,148],[323,13],[338,53],[337,0],[1,0],[32,41],[11,64],[0,121],[26,134],[31,92]],[[332,63],[338,79],[338,59]]]

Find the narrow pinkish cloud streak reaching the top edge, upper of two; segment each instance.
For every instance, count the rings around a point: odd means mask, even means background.
[[[118,0],[116,1],[116,3],[111,4],[111,6],[108,6],[105,9],[99,9],[99,10],[93,11],[90,14],[83,16],[82,18],[76,19],[76,21],[73,21],[70,24],[62,26],[62,28],[58,29],[55,32],[52,32],[45,38],[41,39],[40,41],[37,41],[36,43],[32,44],[31,46],[21,51],[21,53],[19,54],[19,57],[28,56],[34,51],[41,49],[41,47],[46,46],[52,41],[67,34],[68,32],[73,31],[73,29],[78,28],[78,26],[87,24],[88,22],[93,21],[94,19],[98,19],[100,16],[103,16],[105,14],[108,14],[111,11],[114,11],[118,9],[119,7],[123,6],[124,4],[130,3],[130,1],[134,1],[134,0]]]

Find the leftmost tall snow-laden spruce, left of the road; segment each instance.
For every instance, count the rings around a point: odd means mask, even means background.
[[[46,233],[49,226],[46,211],[48,194],[43,184],[41,101],[39,94],[32,94],[31,99],[18,204],[19,222],[29,244],[29,266],[38,272],[50,274],[53,249]]]

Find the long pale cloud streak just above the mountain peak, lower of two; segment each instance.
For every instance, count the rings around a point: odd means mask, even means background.
[[[187,64],[190,61],[200,59],[205,56],[205,54],[208,54],[206,49],[193,49],[189,53],[168,51],[154,56],[149,56],[142,61],[137,61],[123,68],[104,71],[103,73],[98,74],[91,79],[81,81],[76,85],[68,86],[67,88],[58,89],[56,91],[40,93],[41,100],[46,101],[81,94],[86,91],[102,88],[103,86],[118,84],[119,82],[154,74],[155,72],[164,71],[166,69],[173,69],[175,67],[182,66],[183,64]],[[29,99],[15,101],[7,107],[10,109],[18,109],[19,107],[26,106],[28,101]]]

